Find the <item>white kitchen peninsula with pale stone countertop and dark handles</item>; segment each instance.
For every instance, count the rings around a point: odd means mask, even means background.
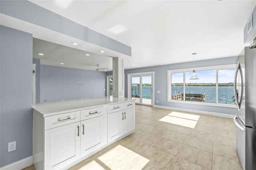
[[[70,168],[135,128],[135,101],[128,98],[36,103],[33,110],[37,170]]]

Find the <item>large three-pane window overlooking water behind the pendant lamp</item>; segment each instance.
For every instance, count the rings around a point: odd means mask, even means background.
[[[235,65],[168,70],[168,101],[234,104]],[[184,93],[185,92],[185,93]]]

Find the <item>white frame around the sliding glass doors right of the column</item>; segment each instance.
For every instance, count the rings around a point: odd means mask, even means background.
[[[152,88],[152,96],[151,96],[151,104],[154,107],[155,105],[155,72],[150,71],[150,72],[142,72],[142,73],[130,73],[127,74],[127,96],[128,98],[132,98],[132,77],[143,77],[143,76],[152,76],[151,79],[151,88]],[[142,91],[141,91],[142,92]],[[140,103],[140,105],[146,105]]]

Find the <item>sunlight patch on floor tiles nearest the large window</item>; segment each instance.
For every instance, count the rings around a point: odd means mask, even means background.
[[[175,125],[180,125],[189,128],[195,128],[196,123],[200,116],[198,115],[191,115],[188,113],[180,113],[180,112],[171,112],[159,121],[172,123]]]

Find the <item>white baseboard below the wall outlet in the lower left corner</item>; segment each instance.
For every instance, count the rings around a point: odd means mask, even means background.
[[[12,164],[6,165],[2,168],[0,168],[0,170],[21,170],[23,168],[26,168],[30,165],[33,164],[33,156],[30,156],[28,158],[19,160],[17,162],[14,162]]]

